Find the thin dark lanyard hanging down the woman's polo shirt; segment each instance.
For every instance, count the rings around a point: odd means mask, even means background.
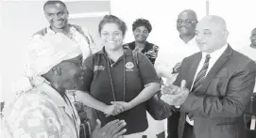
[[[124,71],[124,73],[123,73],[123,75],[124,75],[124,81],[123,81],[123,87],[124,87],[124,89],[123,89],[123,101],[126,101],[126,67],[125,67],[125,64],[126,64],[126,55],[123,55],[124,56],[124,59],[123,59],[123,71]],[[113,100],[114,101],[117,101],[116,100],[116,96],[115,96],[115,89],[114,89],[114,87],[113,87],[113,82],[112,82],[112,75],[111,75],[111,67],[112,67],[112,65],[114,64],[111,64],[110,65],[110,63],[111,63],[111,60],[110,60],[110,57],[108,57],[109,58],[109,60],[108,60],[108,70],[109,70],[109,75],[110,75],[110,80],[111,80],[111,92],[112,92],[112,96],[113,96]]]

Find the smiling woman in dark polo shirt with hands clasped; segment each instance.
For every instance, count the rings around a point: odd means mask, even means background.
[[[126,23],[113,15],[99,23],[103,49],[85,60],[86,91],[77,95],[97,110],[102,123],[125,120],[125,137],[141,138],[148,126],[145,101],[159,90],[160,81],[145,54],[137,54],[136,64],[131,50],[123,47],[126,31]]]

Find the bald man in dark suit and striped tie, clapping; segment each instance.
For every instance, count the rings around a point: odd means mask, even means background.
[[[227,43],[229,32],[221,17],[206,16],[196,25],[199,53],[183,59],[179,138],[245,138],[243,112],[255,84],[256,65]],[[170,100],[175,99],[175,95]]]

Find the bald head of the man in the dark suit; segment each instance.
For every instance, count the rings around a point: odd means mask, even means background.
[[[196,25],[196,42],[202,52],[213,53],[222,48],[228,36],[227,24],[219,16],[205,16]]]

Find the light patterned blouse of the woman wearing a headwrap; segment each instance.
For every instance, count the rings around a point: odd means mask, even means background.
[[[78,138],[79,125],[73,102],[45,83],[4,108],[5,138]]]

